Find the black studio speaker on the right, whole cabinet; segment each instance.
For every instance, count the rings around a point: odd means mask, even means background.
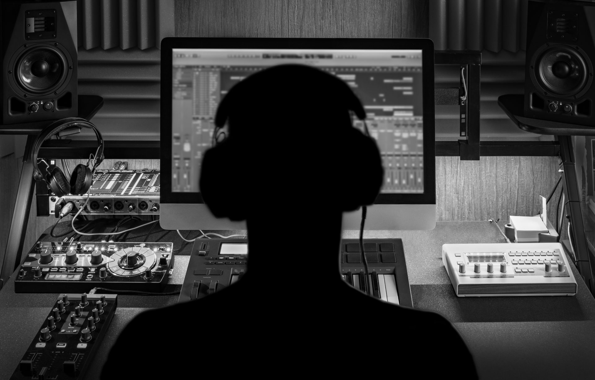
[[[525,117],[595,127],[595,4],[529,1]]]

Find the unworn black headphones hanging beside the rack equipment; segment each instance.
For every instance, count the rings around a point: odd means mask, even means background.
[[[37,166],[37,154],[44,141],[50,139],[56,133],[61,130],[72,128],[72,127],[86,127],[93,129],[95,136],[97,137],[98,148],[93,157],[93,166],[89,167],[91,158],[87,160],[86,164],[78,164],[71,176],[70,180],[66,178],[62,170],[55,165],[48,165],[46,169],[45,177],[42,176],[39,167]],[[33,143],[32,149],[32,163],[33,163],[33,178],[38,181],[45,181],[48,184],[48,188],[54,192],[58,197],[64,197],[64,195],[83,195],[93,185],[93,173],[95,169],[104,160],[104,139],[101,136],[101,132],[97,129],[95,124],[81,119],[80,117],[67,117],[66,119],[57,120],[56,122],[49,124],[49,126],[37,136],[37,139]]]

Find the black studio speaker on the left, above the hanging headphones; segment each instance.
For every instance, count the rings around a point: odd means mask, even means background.
[[[77,116],[76,1],[2,2],[2,124]]]

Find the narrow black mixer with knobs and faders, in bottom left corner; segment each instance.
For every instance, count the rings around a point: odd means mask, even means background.
[[[83,379],[116,305],[114,294],[61,294],[11,380]]]

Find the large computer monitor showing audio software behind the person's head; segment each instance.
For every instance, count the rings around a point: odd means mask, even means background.
[[[430,39],[165,38],[161,43],[161,210],[164,229],[246,229],[202,202],[199,175],[217,106],[233,85],[277,64],[345,80],[367,111],[385,182],[365,228],[436,226],[434,45]],[[355,126],[362,122],[355,119]],[[298,212],[298,211],[296,211]],[[359,229],[361,212],[343,229]]]

